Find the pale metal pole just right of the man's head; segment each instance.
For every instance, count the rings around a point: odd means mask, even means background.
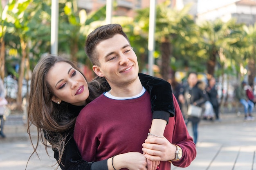
[[[156,20],[156,1],[150,0],[149,10],[149,29],[148,29],[148,74],[154,76],[154,51],[155,51],[155,20]]]

